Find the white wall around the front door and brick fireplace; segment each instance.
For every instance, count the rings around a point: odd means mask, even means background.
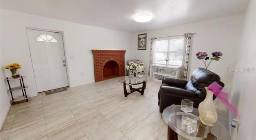
[[[26,38],[26,27],[62,31],[66,49],[70,86],[94,82],[92,49],[126,50],[125,60],[132,58],[132,33],[104,29],[1,9],[2,66],[17,62],[18,72],[26,76],[28,96],[37,94]],[[70,59],[74,56],[74,59]],[[82,76],[81,73],[84,73]],[[10,76],[9,70],[4,70]]]

